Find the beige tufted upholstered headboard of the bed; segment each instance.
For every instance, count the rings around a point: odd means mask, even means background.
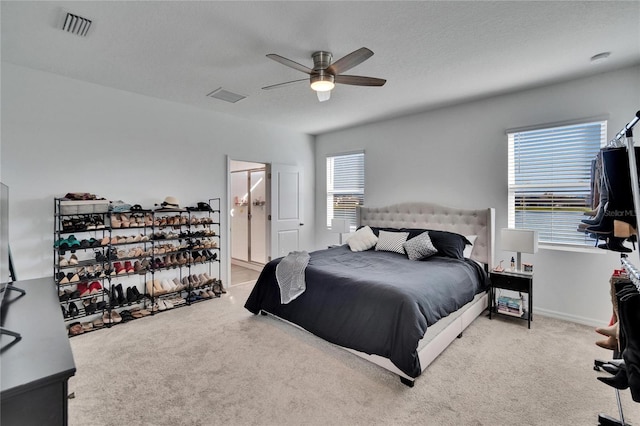
[[[493,267],[495,210],[463,210],[433,203],[358,207],[358,224],[384,228],[419,228],[477,235],[471,259]]]

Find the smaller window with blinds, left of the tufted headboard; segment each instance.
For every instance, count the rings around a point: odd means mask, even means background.
[[[346,219],[356,228],[356,206],[364,203],[364,152],[327,156],[327,227]]]

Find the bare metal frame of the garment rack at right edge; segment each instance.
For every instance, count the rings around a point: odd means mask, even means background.
[[[640,121],[640,111],[636,112],[636,116],[628,122],[622,130],[620,130],[616,136],[607,143],[607,146],[625,146],[627,148],[627,154],[629,155],[629,175],[631,176],[631,193],[633,195],[633,208],[636,212],[640,212],[640,187],[638,185],[638,173],[636,173],[636,152],[633,146],[633,126],[635,126],[638,121]],[[620,140],[625,137],[626,144],[619,144]],[[635,229],[638,229],[638,223],[636,219]],[[638,256],[640,259],[640,250],[638,250]],[[629,260],[627,255],[624,253],[620,254],[620,262],[622,267],[627,271],[629,275],[629,279],[640,291],[640,270],[635,267],[635,265]],[[601,361],[596,360],[594,369],[599,370],[601,366]],[[606,414],[598,415],[598,424],[600,426],[625,426],[628,423],[624,420],[624,414],[622,411],[622,403],[620,401],[620,391],[615,389],[616,392],[616,402],[618,404],[618,413],[620,415],[620,419],[614,419]]]

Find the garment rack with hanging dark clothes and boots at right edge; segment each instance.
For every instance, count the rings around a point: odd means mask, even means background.
[[[598,415],[602,426],[627,425],[620,400],[620,390],[629,389],[633,401],[640,402],[640,270],[628,257],[632,250],[622,243],[638,238],[637,214],[640,212],[640,187],[638,185],[638,148],[633,145],[633,127],[640,120],[638,111],[629,123],[602,149],[602,189],[607,191],[600,198],[599,214],[595,223],[585,232],[594,232],[596,239],[606,238],[601,248],[621,252],[621,269],[611,277],[613,316],[609,327],[596,329],[615,342],[611,360],[594,361],[594,370],[606,371],[610,376],[598,377],[611,386],[616,395],[619,418]],[[640,258],[640,251],[638,252]],[[598,342],[599,346],[606,344]]]

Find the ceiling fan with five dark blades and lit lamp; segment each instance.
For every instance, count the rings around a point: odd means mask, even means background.
[[[331,97],[331,90],[338,84],[351,84],[353,86],[383,86],[387,80],[374,77],[362,77],[358,75],[343,75],[342,73],[350,70],[356,65],[373,56],[373,52],[366,47],[361,47],[349,53],[346,56],[331,63],[333,55],[331,52],[318,51],[311,55],[313,59],[313,68],[306,67],[302,64],[287,59],[275,53],[270,53],[267,58],[280,62],[305,74],[309,74],[309,78],[300,80],[287,81],[285,83],[274,84],[272,86],[263,87],[264,90],[275,89],[278,87],[288,86],[290,84],[299,83],[301,81],[309,81],[311,89],[315,90],[320,102],[328,101]]]

